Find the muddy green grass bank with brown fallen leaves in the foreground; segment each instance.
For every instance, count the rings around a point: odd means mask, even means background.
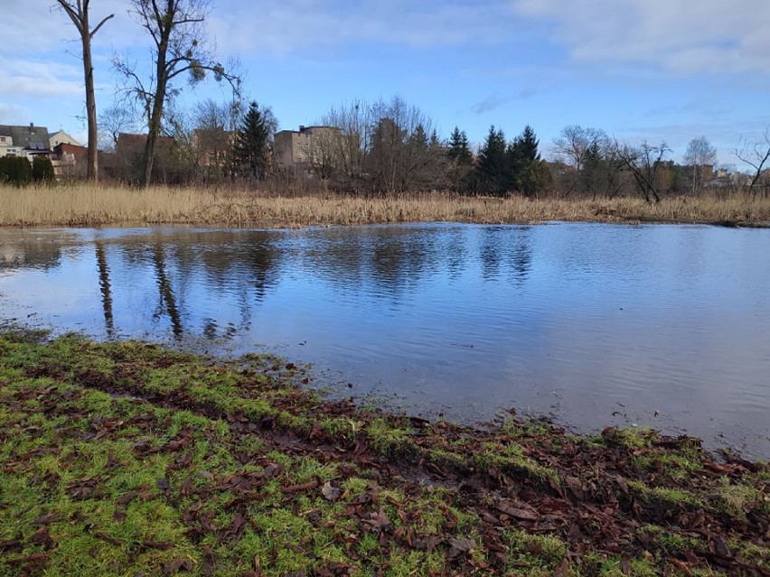
[[[329,402],[276,358],[0,335],[3,575],[768,575],[770,466]]]

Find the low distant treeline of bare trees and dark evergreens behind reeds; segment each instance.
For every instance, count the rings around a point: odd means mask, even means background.
[[[114,112],[102,126],[113,126],[112,150],[101,161],[102,174],[119,181],[141,180],[141,149],[121,147]],[[507,140],[492,126],[473,150],[465,131],[448,139],[437,135],[431,118],[401,98],[332,108],[318,126],[295,133],[287,152],[275,138],[277,119],[269,107],[252,102],[219,105],[206,101],[191,113],[176,113],[156,150],[155,181],[320,188],[352,194],[455,191],[467,195],[528,198],[615,198],[698,195],[707,189],[770,191],[770,178],[728,176],[714,171],[716,151],[704,138],[690,143],[687,164],[669,160],[665,144],[619,143],[603,131],[565,127],[554,140],[554,158],[542,159],[531,126]],[[280,144],[280,145],[279,145]],[[290,158],[286,159],[286,155]]]

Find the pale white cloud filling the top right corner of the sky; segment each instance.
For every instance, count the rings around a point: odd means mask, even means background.
[[[679,73],[770,72],[766,0],[512,0],[553,24],[574,60],[645,63]]]

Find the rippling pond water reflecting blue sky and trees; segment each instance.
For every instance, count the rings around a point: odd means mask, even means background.
[[[334,395],[770,458],[770,230],[0,230],[0,319],[313,363]]]

